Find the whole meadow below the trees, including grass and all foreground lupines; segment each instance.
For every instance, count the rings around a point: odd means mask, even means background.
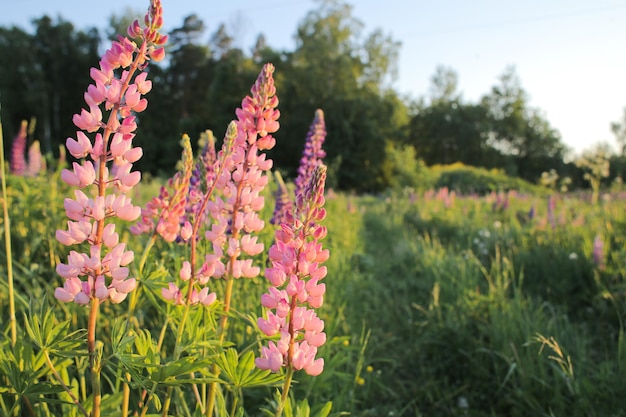
[[[0,417],[626,414],[606,161],[558,193],[396,151],[392,189],[354,195],[317,110],[285,183],[268,63],[219,150],[183,135],[174,176],[140,182],[162,23],[153,0],[92,68],[63,158],[26,166],[26,122],[10,174],[0,154]]]

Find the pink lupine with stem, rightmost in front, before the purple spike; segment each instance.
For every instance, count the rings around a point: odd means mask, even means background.
[[[326,217],[325,182],[326,167],[319,164],[309,183],[296,196],[292,222],[281,224],[276,231],[276,243],[269,251],[272,266],[265,270],[271,287],[261,296],[261,304],[269,311],[267,318],[258,319],[258,326],[267,336],[278,340],[262,348],[255,364],[273,372],[286,368],[277,417],[282,415],[294,371],[304,369],[316,376],[324,368],[324,359],[315,358],[318,347],[326,342],[324,321],[314,309],[322,306],[326,291],[326,285],[320,281],[326,276],[322,263],[328,259],[329,252],[319,243],[327,233],[319,225]]]

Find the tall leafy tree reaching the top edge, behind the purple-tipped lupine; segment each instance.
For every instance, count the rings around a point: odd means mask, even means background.
[[[339,166],[338,186],[386,187],[385,144],[404,140],[408,122],[405,105],[386,88],[399,44],[380,31],[362,41],[362,30],[351,6],[323,1],[298,26],[295,51],[277,65],[283,74],[277,78],[280,109],[289,117],[281,119],[280,145],[272,156],[288,174],[295,173],[294,155],[302,152],[315,109],[322,108],[327,163]]]

